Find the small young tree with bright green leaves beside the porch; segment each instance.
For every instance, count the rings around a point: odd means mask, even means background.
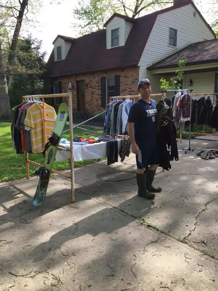
[[[170,78],[170,82],[168,82],[164,78],[160,79],[160,89],[162,91],[164,91],[164,90],[181,89],[181,87],[182,87],[182,76],[184,74],[183,67],[186,64],[186,60],[180,59],[177,64],[178,64],[178,69],[175,72],[176,73],[176,77]]]

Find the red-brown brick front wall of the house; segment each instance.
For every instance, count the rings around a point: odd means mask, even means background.
[[[55,80],[55,82],[62,82],[62,92],[68,92],[69,82],[75,86],[72,89],[72,103],[73,108],[77,109],[76,98],[76,81],[84,80],[88,84],[88,88],[85,89],[85,106],[90,111],[102,111],[101,107],[101,77],[114,77],[120,75],[120,95],[137,95],[137,83],[139,78],[139,67],[113,70],[107,72],[97,72],[87,75],[73,75],[67,77],[61,77]],[[68,98],[63,98],[63,102],[68,103]]]

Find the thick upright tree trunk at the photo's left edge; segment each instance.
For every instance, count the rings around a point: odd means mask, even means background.
[[[0,120],[11,120],[12,112],[10,108],[6,71],[2,63],[2,42],[0,35]]]

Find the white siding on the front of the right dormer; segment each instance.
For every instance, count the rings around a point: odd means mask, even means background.
[[[114,17],[107,25],[107,49],[111,49],[111,30],[119,28],[119,45],[124,45],[124,25],[123,18]]]

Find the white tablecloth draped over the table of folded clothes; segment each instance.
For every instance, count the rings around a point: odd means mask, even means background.
[[[118,153],[121,148],[121,140],[117,139]],[[107,143],[97,142],[92,145],[80,146],[73,145],[74,147],[74,162],[84,160],[103,159],[107,157]],[[70,151],[60,150],[56,154],[56,161],[62,162],[70,159]]]

